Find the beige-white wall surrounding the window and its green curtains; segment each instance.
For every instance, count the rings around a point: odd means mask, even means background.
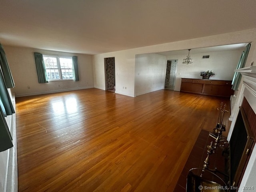
[[[32,48],[21,48],[4,46],[6,57],[12,71],[15,88],[12,91],[16,96],[33,94],[44,94],[64,90],[75,90],[94,87],[92,55],[55,52],[48,50],[37,50]],[[38,83],[34,52],[44,54],[59,54],[78,57],[79,81],[73,80],[54,81],[44,84]],[[30,89],[28,89],[30,86]]]

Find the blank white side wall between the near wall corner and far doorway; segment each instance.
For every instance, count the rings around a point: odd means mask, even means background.
[[[135,56],[135,95],[164,89],[166,59],[160,54]]]

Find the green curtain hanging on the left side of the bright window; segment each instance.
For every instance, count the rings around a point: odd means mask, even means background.
[[[46,69],[44,66],[44,58],[41,53],[34,53],[36,61],[36,71],[38,76],[38,83],[48,83]]]

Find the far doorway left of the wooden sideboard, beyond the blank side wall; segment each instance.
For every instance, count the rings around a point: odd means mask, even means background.
[[[174,90],[178,60],[167,60],[164,88]]]

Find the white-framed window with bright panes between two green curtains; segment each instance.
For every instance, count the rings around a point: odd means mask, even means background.
[[[72,57],[43,55],[48,80],[73,79]]]

